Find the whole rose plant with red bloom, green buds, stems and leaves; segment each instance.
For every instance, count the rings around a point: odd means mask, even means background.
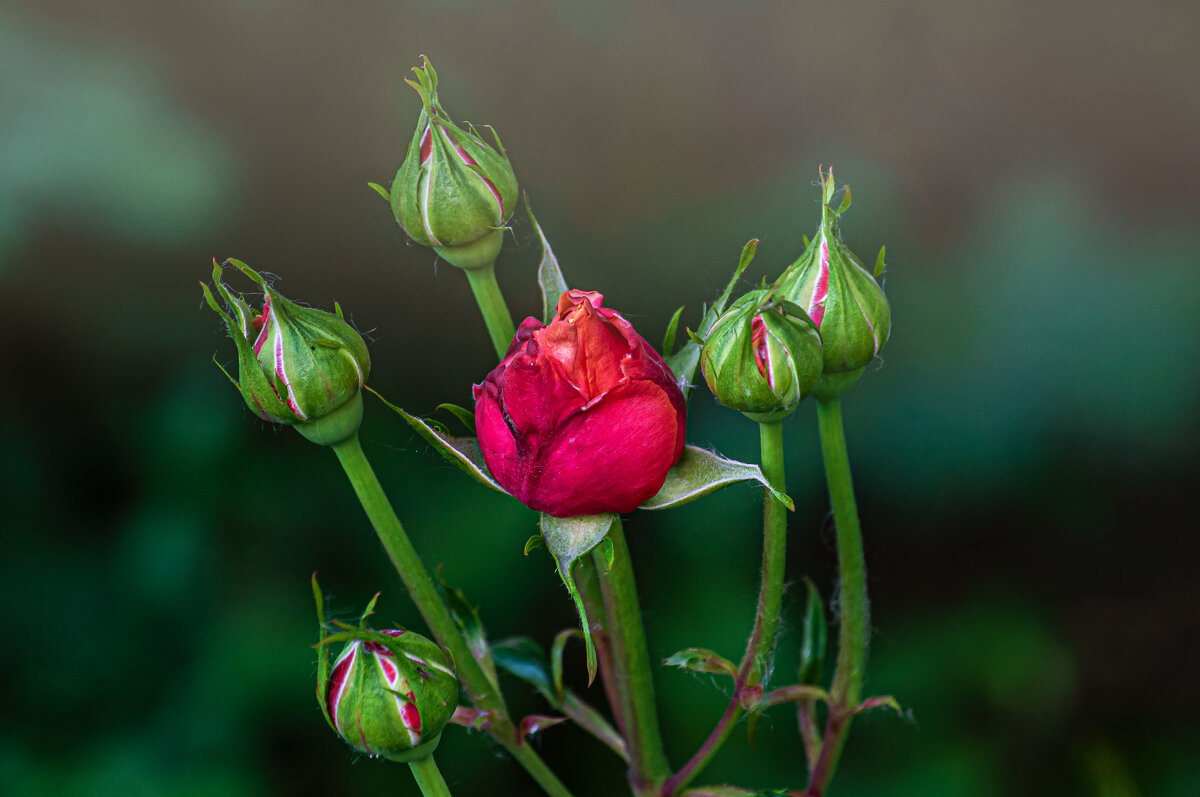
[[[751,797],[767,792],[689,786],[744,715],[750,714],[752,732],[763,712],[793,703],[806,784],[803,791],[770,793],[822,797],[853,717],[877,706],[896,707],[890,697],[862,697],[870,624],[839,396],[887,341],[890,311],[875,280],[882,252],[872,276],[841,240],[836,221],[848,206],[848,188],[834,210],[833,174],[822,173],[821,224],[804,254],[769,287],[763,280],[761,288],[733,299],[754,259],[757,241],[750,241],[725,290],[678,348],[683,308],[671,319],[661,354],[626,318],[604,306],[601,293],[569,286],[529,212],[541,242],[542,314],[514,328],[494,278],[494,258],[503,242],[500,226],[514,210],[516,178],[503,149],[493,150],[473,127],[463,131],[450,120],[428,61],[415,72],[422,101],[416,134],[392,191],[376,188],[390,197],[395,217],[415,240],[463,268],[499,362],[474,385],[473,412],[444,406],[468,429],[466,435],[384,403],[475,481],[540,513],[539,534],[524,543],[524,553],[545,545],[575,601],[580,627],[559,633],[548,658],[526,637],[491,642],[466,595],[444,582],[440,589],[434,585],[362,451],[358,432],[362,390],[371,390],[365,384],[371,361],[361,336],[337,305],[335,313],[301,307],[245,264],[228,262],[263,289],[262,312],[256,313],[214,264],[215,289],[204,286],[204,295],[235,342],[234,382],[246,405],[336,454],[432,636],[367,628],[374,600],[356,627],[326,622],[314,576],[322,712],[356,750],[407,762],[427,797],[450,793],[433,763],[433,748],[448,724],[486,731],[545,793],[570,797],[528,744],[530,735],[565,720],[620,759],[637,797]],[[701,366],[716,398],[758,427],[758,465],[685,445],[688,400]],[[840,580],[836,667],[828,687],[821,666],[824,606],[811,582],[798,682],[772,683],[780,677],[772,664],[784,613],[787,510],[793,508],[785,492],[782,424],[810,392]],[[674,767],[659,725],[654,667],[619,516],[678,507],[745,480],[763,486],[762,580],[754,622],[737,663],[700,647],[666,659],[667,665],[732,682],[712,732]],[[564,685],[564,647],[572,637],[584,641],[588,684],[599,673],[607,713]],[[330,666],[328,649],[335,642],[346,648]],[[500,671],[534,685],[556,713],[514,718],[500,691]]]

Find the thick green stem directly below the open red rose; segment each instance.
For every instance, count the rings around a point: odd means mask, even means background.
[[[616,681],[622,685],[620,717],[624,719],[625,744],[629,748],[629,784],[635,795],[656,795],[670,766],[659,733],[650,655],[637,604],[634,564],[619,517],[610,528],[608,539],[613,547],[612,569],[600,576],[600,591],[604,594]]]

